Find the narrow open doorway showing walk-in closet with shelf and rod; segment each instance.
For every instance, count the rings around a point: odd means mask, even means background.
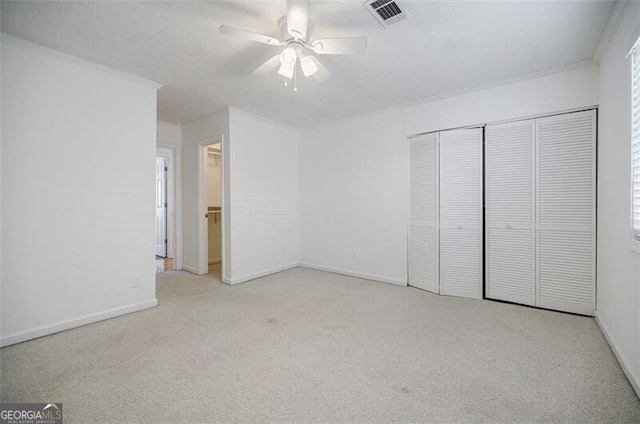
[[[198,210],[198,274],[223,280],[224,208],[223,208],[222,139],[203,142],[199,146]]]

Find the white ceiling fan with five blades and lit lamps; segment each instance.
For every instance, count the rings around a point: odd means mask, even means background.
[[[253,73],[263,75],[278,68],[278,73],[285,77],[285,85],[287,85],[287,79],[293,79],[294,91],[297,91],[295,81],[298,64],[305,77],[313,77],[322,82],[330,76],[327,68],[313,53],[319,55],[354,54],[364,53],[367,49],[366,37],[319,38],[311,41],[309,38],[311,32],[309,9],[310,0],[287,0],[287,15],[278,21],[280,38],[229,25],[221,25],[220,32],[270,46],[284,46],[280,53],[267,60]]]

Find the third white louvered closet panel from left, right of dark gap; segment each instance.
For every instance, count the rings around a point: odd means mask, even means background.
[[[535,120],[485,129],[485,295],[535,305]]]

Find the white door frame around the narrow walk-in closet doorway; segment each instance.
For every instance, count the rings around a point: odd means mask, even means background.
[[[226,160],[225,160],[225,142],[224,135],[220,134],[216,137],[208,138],[197,143],[198,147],[198,170],[197,170],[197,219],[196,219],[196,232],[197,232],[197,244],[196,244],[196,257],[197,257],[197,270],[199,275],[205,275],[209,273],[209,234],[208,234],[208,205],[207,205],[207,149],[212,144],[220,143],[220,160],[221,160],[221,175],[220,175],[220,228],[222,229],[222,246],[221,246],[221,264],[222,264],[222,282],[227,282],[225,278],[227,262],[226,262]]]

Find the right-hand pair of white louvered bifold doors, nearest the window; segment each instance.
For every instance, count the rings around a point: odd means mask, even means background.
[[[595,142],[595,110],[487,125],[487,298],[593,315]]]

